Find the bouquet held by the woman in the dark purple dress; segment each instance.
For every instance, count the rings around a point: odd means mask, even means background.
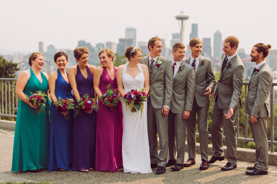
[[[75,106],[76,111],[74,114],[74,117],[78,116],[79,114],[82,114],[82,111],[90,111],[91,109],[98,109],[98,105],[93,103],[94,98],[90,98],[88,94],[85,94],[83,97],[81,97],[79,100],[77,100],[78,105]]]

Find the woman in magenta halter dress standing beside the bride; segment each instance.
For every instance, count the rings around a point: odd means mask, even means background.
[[[114,53],[105,48],[99,52],[102,66],[97,67],[94,75],[94,89],[98,96],[105,94],[107,85],[111,84],[113,89],[117,88],[116,73],[114,67]],[[110,110],[114,104],[103,104],[98,102],[96,127],[96,155],[95,171],[115,172],[123,167],[122,163],[122,107],[121,103]]]

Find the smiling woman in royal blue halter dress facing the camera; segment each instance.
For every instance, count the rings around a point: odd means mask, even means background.
[[[72,168],[72,127],[73,112],[59,112],[54,102],[59,97],[72,98],[72,89],[68,80],[66,64],[68,56],[65,52],[57,52],[54,56],[54,62],[58,70],[49,75],[49,91],[52,103],[50,106],[50,146],[49,146],[49,171],[67,171]],[[64,115],[68,114],[66,120]]]

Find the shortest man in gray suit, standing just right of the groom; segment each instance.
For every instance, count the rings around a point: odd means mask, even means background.
[[[169,148],[174,147],[176,139],[177,163],[171,169],[180,171],[184,168],[186,124],[194,100],[195,72],[193,67],[183,61],[185,57],[184,44],[175,43],[172,47],[172,54],[174,80],[171,109],[168,115],[168,144]],[[175,150],[169,150],[170,153],[173,151]]]

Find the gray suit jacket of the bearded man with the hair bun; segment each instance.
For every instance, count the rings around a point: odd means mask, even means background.
[[[267,63],[260,66],[258,70],[259,72],[253,74],[249,80],[246,112],[254,117],[270,117],[272,71]]]

